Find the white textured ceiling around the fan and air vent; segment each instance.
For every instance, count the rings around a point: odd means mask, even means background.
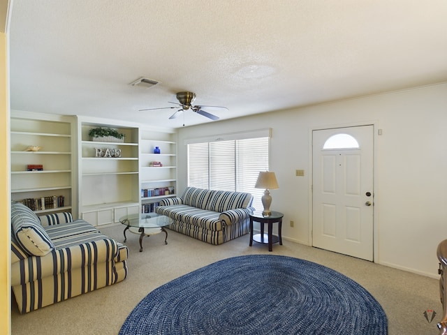
[[[14,1],[11,108],[177,128],[210,120],[138,110],[187,90],[228,119],[445,82],[446,17],[446,0]]]

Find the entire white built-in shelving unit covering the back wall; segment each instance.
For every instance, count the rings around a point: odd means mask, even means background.
[[[177,135],[171,128],[20,111],[11,111],[10,123],[12,200],[64,197],[64,207],[37,208],[39,215],[71,211],[73,218],[105,225],[153,211],[163,198],[176,195]],[[124,133],[124,142],[93,141],[89,131],[98,127]],[[30,146],[41,149],[26,151]],[[154,154],[155,147],[160,154]],[[104,157],[98,149],[120,154]],[[28,171],[27,165],[43,170]]]

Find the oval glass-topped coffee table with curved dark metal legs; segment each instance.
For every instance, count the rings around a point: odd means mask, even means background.
[[[145,236],[164,232],[166,234],[165,244],[168,244],[168,241],[166,241],[168,232],[165,229],[170,223],[168,216],[156,213],[130,214],[120,218],[119,222],[126,226],[124,228],[124,242],[127,241],[126,230],[134,234],[140,234],[140,252],[142,252],[142,238]]]

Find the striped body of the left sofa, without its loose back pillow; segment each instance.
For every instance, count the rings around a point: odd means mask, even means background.
[[[11,286],[20,313],[124,280],[128,249],[83,220],[49,225],[54,250],[27,257],[11,242]]]

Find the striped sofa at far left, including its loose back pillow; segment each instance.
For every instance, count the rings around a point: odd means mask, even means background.
[[[11,205],[11,286],[20,313],[123,281],[128,249],[69,213]]]

